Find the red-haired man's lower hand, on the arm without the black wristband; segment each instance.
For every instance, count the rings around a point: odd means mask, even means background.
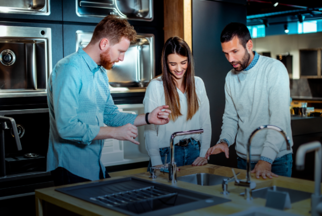
[[[140,144],[134,140],[138,136],[138,128],[133,124],[126,124],[121,127],[110,127],[112,138],[116,140],[127,140],[134,144]]]

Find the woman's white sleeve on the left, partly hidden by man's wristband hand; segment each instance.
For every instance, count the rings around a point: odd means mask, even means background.
[[[158,81],[151,81],[146,89],[145,97],[143,100],[144,113],[151,112],[153,109],[158,107],[156,82]],[[162,164],[159,145],[157,141],[158,127],[158,125],[154,124],[147,124],[144,126],[145,148],[150,156],[152,166]]]

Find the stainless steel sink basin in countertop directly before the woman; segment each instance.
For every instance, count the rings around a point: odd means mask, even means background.
[[[188,176],[181,176],[178,177],[177,180],[185,181],[192,184],[198,184],[202,186],[212,186],[221,184],[222,180],[228,179],[228,177],[218,176],[215,174],[208,174],[208,173],[198,173],[192,174]]]

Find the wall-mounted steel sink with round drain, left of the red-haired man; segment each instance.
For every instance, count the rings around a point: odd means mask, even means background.
[[[45,96],[51,29],[0,26],[0,98]]]

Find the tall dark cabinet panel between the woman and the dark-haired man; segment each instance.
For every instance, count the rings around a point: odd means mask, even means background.
[[[246,5],[229,1],[192,0],[192,52],[195,73],[203,79],[210,102],[212,144],[219,140],[225,108],[224,84],[232,69],[222,53],[220,34],[231,22],[246,24]],[[224,154],[211,156],[211,163],[236,167],[236,159]]]

